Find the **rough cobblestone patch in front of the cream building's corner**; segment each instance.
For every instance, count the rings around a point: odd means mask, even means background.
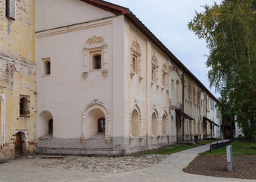
[[[43,165],[43,167],[120,173],[149,168],[162,162],[167,157],[168,155],[155,154],[123,157],[65,156],[56,162]]]

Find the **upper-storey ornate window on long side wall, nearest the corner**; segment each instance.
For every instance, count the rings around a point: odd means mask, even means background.
[[[137,42],[137,40],[135,40],[133,41],[131,46],[130,76],[131,78],[133,78],[135,75],[138,75],[139,82],[142,80],[141,69],[140,69],[140,57],[141,57],[141,52],[140,52],[139,43]]]

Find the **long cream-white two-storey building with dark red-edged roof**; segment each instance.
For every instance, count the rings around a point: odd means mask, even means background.
[[[128,9],[36,1],[37,152],[123,155],[220,137],[218,100]]]

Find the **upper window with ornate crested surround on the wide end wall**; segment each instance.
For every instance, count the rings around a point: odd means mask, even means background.
[[[82,76],[86,79],[90,71],[101,71],[107,77],[107,44],[101,37],[93,36],[85,43],[84,69]]]

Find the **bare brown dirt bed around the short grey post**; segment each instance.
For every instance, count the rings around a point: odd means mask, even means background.
[[[225,155],[197,155],[183,171],[214,177],[256,179],[256,155],[233,156],[232,171],[228,171]]]

